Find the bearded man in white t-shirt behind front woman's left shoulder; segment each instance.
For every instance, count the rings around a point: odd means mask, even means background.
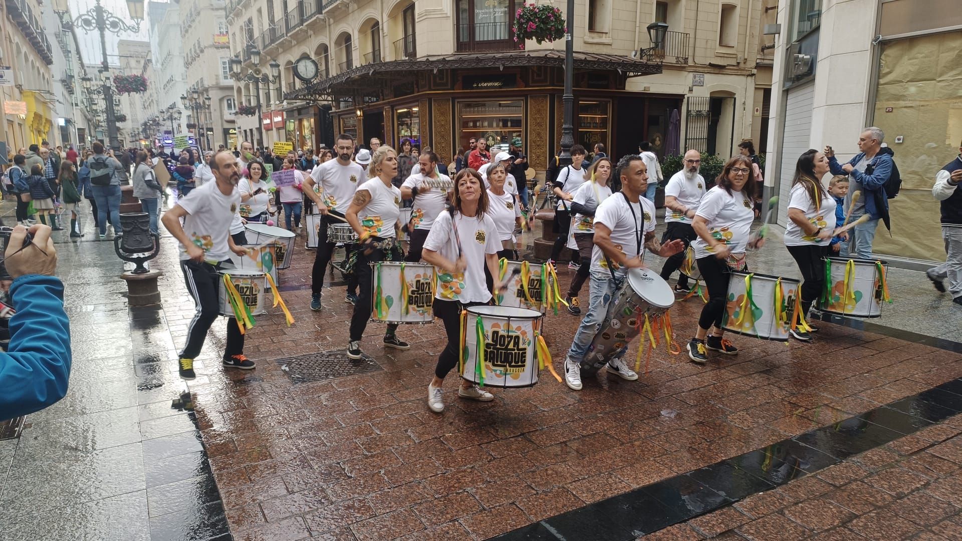
[[[421,154],[418,166],[418,173],[412,174],[401,184],[401,198],[414,199],[411,221],[406,224],[411,237],[408,253],[404,257],[404,261],[412,263],[420,261],[424,240],[447,203],[448,191],[441,186],[451,184],[447,175],[438,172],[438,155],[434,152]]]

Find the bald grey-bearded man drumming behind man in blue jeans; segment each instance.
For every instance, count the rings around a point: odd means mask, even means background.
[[[688,248],[697,236],[695,229],[692,228],[692,220],[695,219],[695,211],[698,209],[701,197],[705,195],[705,179],[698,174],[700,166],[701,154],[697,150],[685,152],[684,167],[671,175],[665,187],[666,229],[662,236],[662,244],[680,239],[685,248]],[[662,279],[668,280],[671,273],[678,270],[684,260],[684,251],[668,258],[665,266],[662,267]],[[674,292],[688,293],[688,276],[683,272],[678,273],[678,283],[674,286]]]

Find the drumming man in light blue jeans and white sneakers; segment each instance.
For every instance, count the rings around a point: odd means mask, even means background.
[[[575,391],[581,389],[581,363],[627,270],[645,267],[646,249],[670,257],[684,246],[678,240],[662,245],[655,238],[655,206],[642,196],[648,185],[645,161],[637,154],[624,156],[616,174],[621,179],[620,193],[605,199],[595,211],[591,300],[565,359],[565,383]],[[621,358],[608,362],[608,372],[629,381],[638,379]]]

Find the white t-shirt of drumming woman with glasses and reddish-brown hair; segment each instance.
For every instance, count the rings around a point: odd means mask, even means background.
[[[708,233],[716,241],[728,245],[731,253],[744,253],[751,234],[751,222],[755,211],[751,200],[741,192],[731,195],[721,186],[715,186],[701,198],[696,216],[708,222]],[[694,243],[695,257],[702,258],[714,250],[698,237]]]

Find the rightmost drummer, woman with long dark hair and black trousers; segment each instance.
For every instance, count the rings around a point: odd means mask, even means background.
[[[835,230],[835,199],[822,186],[828,172],[828,159],[818,150],[806,151],[798,157],[792,192],[788,201],[788,227],[785,246],[795,258],[801,277],[801,310],[807,317],[808,309],[818,300],[825,288],[823,258]],[[794,327],[794,325],[793,325]],[[814,327],[812,330],[815,330]],[[797,340],[808,341],[811,334],[801,329],[789,330]]]

